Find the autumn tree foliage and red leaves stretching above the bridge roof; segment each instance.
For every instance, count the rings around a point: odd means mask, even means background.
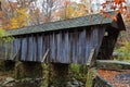
[[[91,9],[91,2],[94,0],[17,0],[11,2],[1,0],[0,21],[4,29],[31,26],[47,22],[66,20],[84,16],[94,13]],[[130,17],[127,0],[106,0],[102,3],[100,13],[105,17],[112,17],[117,21],[115,15],[109,15],[107,11],[117,11],[127,17]]]

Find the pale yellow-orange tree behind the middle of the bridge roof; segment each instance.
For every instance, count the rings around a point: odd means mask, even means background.
[[[64,3],[64,8],[57,11],[56,14],[61,20],[79,17],[89,14],[89,8],[83,2],[67,2]]]

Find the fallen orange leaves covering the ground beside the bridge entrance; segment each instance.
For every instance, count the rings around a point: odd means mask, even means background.
[[[119,71],[109,71],[109,70],[99,70],[98,71],[100,76],[114,85],[114,87],[129,87],[129,78],[126,78],[123,82],[120,82],[118,78],[116,78],[118,75],[125,75],[129,74],[130,70],[126,70],[122,72]],[[128,83],[128,84],[127,84]]]

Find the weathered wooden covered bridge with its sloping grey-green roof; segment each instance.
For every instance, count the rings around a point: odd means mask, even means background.
[[[53,63],[88,64],[90,59],[112,59],[125,24],[119,13],[108,12],[117,21],[101,14],[51,22],[8,30],[0,41],[0,59]]]

